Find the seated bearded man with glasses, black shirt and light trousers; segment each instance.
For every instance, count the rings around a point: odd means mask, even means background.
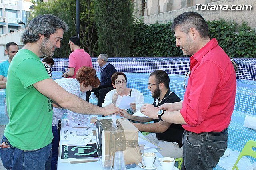
[[[164,103],[180,102],[180,98],[170,90],[170,78],[163,70],[157,70],[150,74],[148,89],[154,98],[154,107],[160,107]],[[151,122],[147,124],[133,123],[138,130],[150,132],[146,139],[159,146],[159,152],[164,157],[181,158],[183,155],[182,134],[184,128],[181,125],[168,123],[162,119],[137,117],[129,115],[124,109],[120,109],[121,116],[138,122]],[[160,121],[161,120],[161,121]]]

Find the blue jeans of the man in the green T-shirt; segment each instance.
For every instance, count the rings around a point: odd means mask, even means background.
[[[50,170],[52,143],[36,150],[20,150],[12,146],[3,135],[2,142],[9,148],[0,148],[0,156],[7,170]]]

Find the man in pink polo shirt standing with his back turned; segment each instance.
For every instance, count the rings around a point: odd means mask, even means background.
[[[62,77],[76,78],[76,71],[83,66],[92,67],[92,59],[84,49],[80,49],[80,39],[78,36],[71,36],[69,39],[69,47],[72,53],[68,59],[68,71],[66,71]]]

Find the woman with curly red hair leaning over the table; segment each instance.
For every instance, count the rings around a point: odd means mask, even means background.
[[[91,67],[81,67],[80,69],[78,69],[75,79],[57,79],[55,81],[63,89],[65,89],[69,93],[77,95],[78,97],[81,97],[83,92],[92,90],[92,87],[98,87],[100,85],[100,80],[96,75],[96,71]],[[65,108],[60,108],[58,107],[58,105],[54,105],[52,117],[52,170],[57,169],[56,164],[58,160],[60,141],[60,135],[58,133],[57,125],[64,113],[68,113],[68,119],[81,125],[89,125],[90,123],[95,123],[97,121],[96,117],[90,119],[89,115],[75,113]]]

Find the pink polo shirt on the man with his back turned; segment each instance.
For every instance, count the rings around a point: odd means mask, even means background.
[[[92,59],[83,49],[76,49],[69,55],[68,59],[68,68],[75,68],[74,75],[71,78],[76,78],[76,72],[83,66],[92,67]]]

